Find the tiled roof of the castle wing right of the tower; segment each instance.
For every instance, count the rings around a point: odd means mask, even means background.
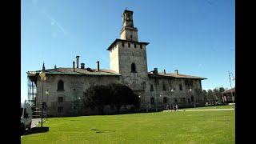
[[[157,75],[149,73],[149,77],[162,77],[162,78],[195,78],[195,79],[207,79],[202,77],[196,77],[192,75],[186,75],[186,74],[172,74],[172,73],[158,73]]]

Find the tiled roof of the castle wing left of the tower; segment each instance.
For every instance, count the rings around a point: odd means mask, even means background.
[[[41,70],[37,70],[36,74],[39,74]],[[29,72],[28,72],[29,74]],[[46,70],[46,74],[88,74],[88,75],[121,75],[118,73],[115,73],[113,70],[105,70],[100,69],[96,71],[96,69],[81,69],[81,68],[56,68],[56,69],[49,69]]]

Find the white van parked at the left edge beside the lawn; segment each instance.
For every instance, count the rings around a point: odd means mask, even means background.
[[[30,130],[32,122],[32,109],[29,103],[21,104],[21,134],[24,134],[26,128]]]

